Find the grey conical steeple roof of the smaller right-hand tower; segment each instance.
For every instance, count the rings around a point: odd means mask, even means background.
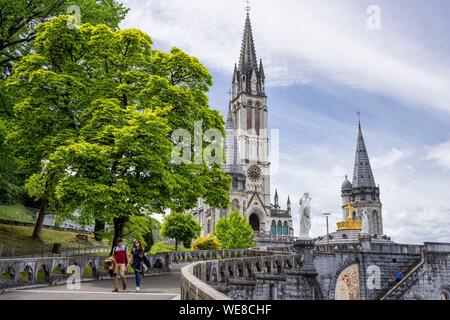
[[[361,121],[358,121],[358,140],[356,143],[355,169],[353,171],[353,188],[365,187],[376,188],[376,184],[362,133]]]

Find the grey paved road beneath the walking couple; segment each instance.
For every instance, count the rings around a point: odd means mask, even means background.
[[[0,300],[179,300],[181,273],[146,276],[140,292],[135,291],[134,278],[128,278],[127,285],[127,291],[119,293],[112,292],[112,279],[83,282],[80,290],[66,286],[11,290],[0,294]]]

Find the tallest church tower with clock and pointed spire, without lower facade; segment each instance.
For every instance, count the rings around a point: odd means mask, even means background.
[[[230,113],[237,138],[239,161],[247,173],[246,189],[257,191],[264,205],[269,205],[269,126],[265,74],[262,61],[258,62],[256,58],[248,13],[239,65],[234,68]]]

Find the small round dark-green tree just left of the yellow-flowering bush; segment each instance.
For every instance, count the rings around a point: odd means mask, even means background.
[[[169,239],[175,240],[175,250],[178,244],[183,243],[190,247],[193,239],[197,238],[202,231],[200,223],[192,214],[173,212],[164,218],[161,234]],[[188,246],[186,246],[189,244]]]

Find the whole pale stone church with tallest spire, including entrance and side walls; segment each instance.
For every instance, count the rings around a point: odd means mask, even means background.
[[[221,217],[238,212],[249,220],[260,238],[293,237],[291,202],[282,209],[278,192],[271,198],[269,108],[262,60],[256,57],[250,15],[247,13],[239,63],[234,67],[226,122],[223,170],[232,177],[231,208],[218,209],[199,200],[194,216],[203,234],[214,232]],[[273,200],[273,202],[272,202]]]

